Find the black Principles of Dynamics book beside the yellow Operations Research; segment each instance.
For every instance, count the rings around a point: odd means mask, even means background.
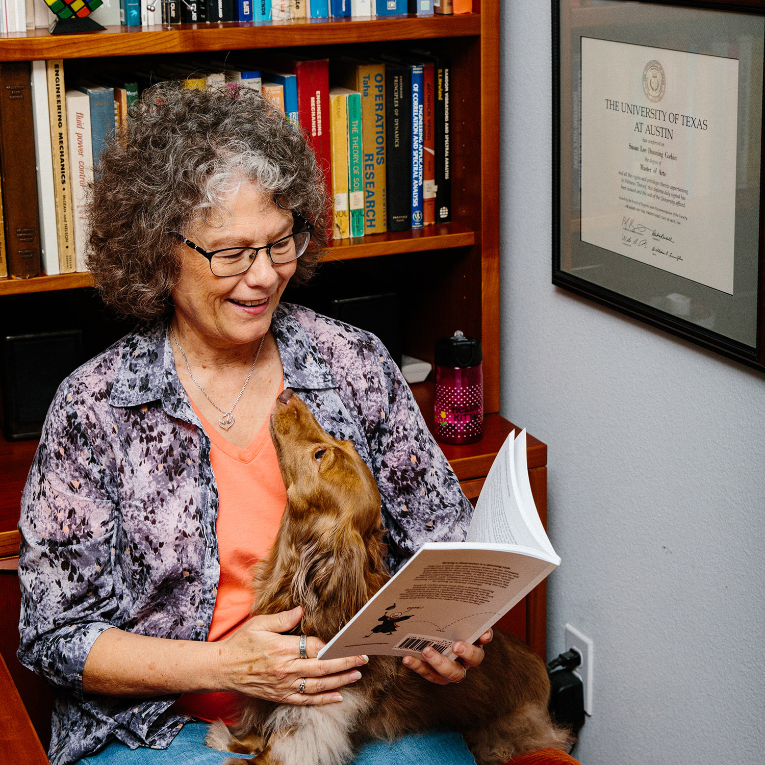
[[[402,64],[386,63],[386,189],[388,230],[411,225],[412,73]]]

